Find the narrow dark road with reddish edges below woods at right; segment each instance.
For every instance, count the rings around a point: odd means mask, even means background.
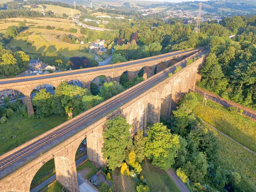
[[[199,90],[199,88],[197,88],[197,87],[195,87],[195,92],[196,92],[196,93],[199,93],[199,94],[202,95],[202,96],[204,96],[204,93],[206,93],[206,92],[204,92],[203,90]],[[227,101],[226,101],[225,99],[219,98],[219,97],[217,97],[217,96],[214,96],[213,94],[210,94],[209,92],[206,93],[205,95],[208,96],[208,99],[210,99],[210,100],[212,100],[213,102],[216,102],[216,103],[218,103],[218,104],[220,104],[220,105],[222,105],[222,106],[224,106],[224,107],[229,108],[229,107],[235,106],[235,104],[234,104],[234,105],[231,105],[231,104],[227,103]],[[230,103],[231,103],[231,102],[230,102]],[[236,106],[236,107],[237,107],[237,106]],[[243,110],[244,110],[244,111],[243,111],[243,114],[244,114],[244,115],[249,116],[249,117],[251,117],[251,118],[253,118],[253,119],[256,119],[256,115],[255,115],[255,114],[251,113],[250,111],[246,111],[244,108],[243,108]]]

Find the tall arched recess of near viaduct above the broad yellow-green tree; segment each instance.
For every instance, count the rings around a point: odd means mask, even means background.
[[[160,121],[160,105],[160,94],[157,91],[153,91],[148,101],[147,122],[153,124]]]

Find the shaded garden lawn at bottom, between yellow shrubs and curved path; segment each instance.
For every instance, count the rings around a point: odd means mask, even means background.
[[[180,192],[171,177],[163,169],[152,166],[147,159],[143,160],[140,175],[147,180],[151,192]]]

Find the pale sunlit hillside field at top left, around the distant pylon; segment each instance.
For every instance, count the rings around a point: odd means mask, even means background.
[[[79,10],[76,10],[76,12],[75,12],[75,9],[61,7],[61,6],[55,6],[55,5],[44,5],[44,6],[46,6],[46,9],[44,9],[44,11],[52,11],[52,12],[54,12],[55,15],[61,15],[62,16],[63,13],[66,13],[67,15],[70,16],[71,15],[71,10],[73,11],[73,14],[80,14],[81,13]],[[30,5],[27,5],[27,6],[24,6],[24,7],[30,8]],[[41,10],[42,10],[41,7],[42,7],[42,5],[38,5],[38,8],[31,9],[31,10],[41,12]]]

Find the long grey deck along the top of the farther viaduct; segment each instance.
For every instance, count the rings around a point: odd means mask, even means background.
[[[199,48],[200,49],[200,48]],[[199,49],[195,49],[196,50],[199,50]],[[188,51],[191,51],[191,50],[188,50]],[[175,53],[172,53],[170,52],[170,54],[166,54],[166,55],[159,55],[157,58],[145,58],[143,59],[142,61],[134,61],[134,62],[130,62],[130,63],[126,63],[126,64],[113,64],[113,65],[110,65],[108,67],[93,67],[92,69],[90,68],[87,68],[87,69],[84,69],[84,70],[73,70],[73,71],[70,71],[70,73],[63,73],[63,72],[60,72],[60,73],[52,73],[50,76],[44,76],[44,75],[40,75],[40,76],[35,76],[35,77],[28,77],[28,78],[25,78],[25,79],[17,79],[15,78],[15,80],[8,80],[8,79],[0,79],[0,84],[7,84],[7,83],[17,83],[17,82],[23,82],[23,81],[33,81],[33,80],[38,80],[38,79],[48,79],[48,78],[52,78],[52,77],[61,77],[61,76],[69,76],[69,75],[73,75],[73,74],[80,74],[80,73],[88,73],[88,72],[93,72],[93,71],[100,71],[100,70],[106,70],[106,69],[113,69],[113,68],[118,68],[118,67],[125,67],[125,66],[129,66],[129,65],[133,65],[133,64],[140,64],[140,63],[143,63],[143,62],[147,62],[147,61],[154,61],[156,59],[159,59],[159,58],[166,58],[166,57],[170,57],[170,56],[173,56],[173,55],[178,55],[180,53],[186,53],[187,51],[180,51],[180,52],[175,52]]]

